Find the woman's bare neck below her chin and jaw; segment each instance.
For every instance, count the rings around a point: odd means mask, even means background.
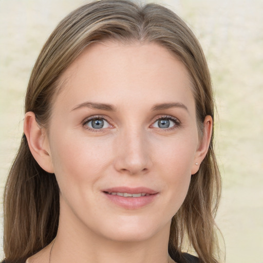
[[[52,248],[51,263],[76,261],[78,263],[174,262],[167,252],[169,233],[170,223],[156,235],[147,239],[111,240],[93,233],[81,222],[76,224],[76,222],[61,220],[58,235]]]

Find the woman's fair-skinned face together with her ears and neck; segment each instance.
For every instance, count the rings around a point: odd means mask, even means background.
[[[206,116],[198,137],[185,67],[155,43],[104,42],[90,45],[61,80],[48,129],[33,112],[24,125],[31,153],[60,187],[51,261],[174,262],[171,219],[212,131]],[[51,245],[28,262],[49,262]]]

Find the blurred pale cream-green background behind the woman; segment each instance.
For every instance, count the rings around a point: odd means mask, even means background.
[[[223,178],[217,223],[226,242],[226,261],[263,263],[263,1],[156,2],[187,21],[211,69],[219,114],[216,147]],[[1,196],[22,134],[24,95],[37,54],[55,25],[85,3],[0,1]],[[1,204],[1,236],[2,211]]]

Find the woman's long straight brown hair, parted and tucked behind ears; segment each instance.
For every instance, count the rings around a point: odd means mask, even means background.
[[[210,73],[202,49],[186,24],[160,5],[136,5],[124,0],[102,0],[67,15],[55,28],[37,59],[29,80],[25,112],[33,111],[42,127],[48,126],[52,100],[63,88],[60,76],[92,42],[155,42],[185,65],[192,82],[196,120],[202,135],[205,116],[214,118]],[[172,219],[169,253],[183,261],[185,240],[200,262],[217,263],[214,216],[221,179],[213,149],[192,176],[181,208]],[[55,237],[59,222],[59,186],[54,174],[32,157],[25,135],[10,169],[4,196],[4,252],[6,262],[23,262]]]

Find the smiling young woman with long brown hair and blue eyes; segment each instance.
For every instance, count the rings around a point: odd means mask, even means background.
[[[73,11],[35,63],[25,112],[5,262],[219,262],[210,74],[176,14],[114,0]]]

